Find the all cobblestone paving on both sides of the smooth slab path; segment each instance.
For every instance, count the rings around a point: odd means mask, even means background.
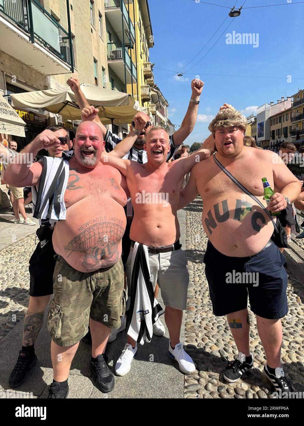
[[[264,351],[250,312],[250,347],[254,368],[243,380],[230,384],[223,379],[227,360],[237,354],[224,317],[215,317],[202,262],[207,236],[202,228],[202,201],[186,207],[186,254],[190,273],[188,308],[185,318],[186,350],[196,371],[185,376],[186,398],[266,398],[274,389],[262,373]],[[0,339],[23,320],[28,306],[28,260],[35,248],[36,234],[26,236],[0,251]],[[293,239],[299,245],[301,240]],[[304,252],[303,252],[304,253]],[[289,271],[289,312],[283,319],[282,365],[295,390],[304,391],[304,288]]]

